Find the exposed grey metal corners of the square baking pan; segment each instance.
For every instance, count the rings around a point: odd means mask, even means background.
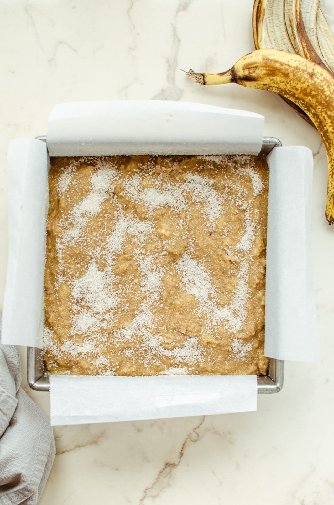
[[[46,136],[36,137],[46,142]],[[263,137],[260,154],[268,155],[270,151],[281,146],[279,139]],[[283,387],[284,361],[269,358],[267,375],[257,376],[258,394],[278,393]],[[43,350],[37,347],[27,347],[27,381],[35,391],[49,391],[49,376],[43,362]]]

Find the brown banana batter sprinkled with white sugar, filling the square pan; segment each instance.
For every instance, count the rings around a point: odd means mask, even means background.
[[[53,158],[53,374],[265,375],[264,156]]]

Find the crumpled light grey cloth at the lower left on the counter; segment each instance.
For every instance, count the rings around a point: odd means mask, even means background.
[[[50,424],[20,383],[17,347],[0,344],[1,505],[37,503],[55,456]]]

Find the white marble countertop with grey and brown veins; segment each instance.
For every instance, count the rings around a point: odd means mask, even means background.
[[[327,0],[326,14],[331,4]],[[323,145],[279,96],[234,84],[199,87],[179,71],[226,70],[252,51],[252,1],[4,0],[0,12],[1,301],[8,143],[44,134],[55,103],[159,98],[246,109],[265,116],[266,135],[314,153],[312,261],[321,361],[287,363],[283,391],[259,396],[254,413],[55,428],[57,456],[40,505],[333,503],[334,227],[324,219]],[[24,349],[21,357],[23,386],[48,415],[48,394],[27,388]]]

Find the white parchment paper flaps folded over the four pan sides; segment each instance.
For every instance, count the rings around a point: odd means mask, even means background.
[[[51,156],[257,154],[262,135],[263,117],[249,112],[179,102],[72,103],[53,108],[47,146]],[[312,154],[306,147],[276,147],[268,166],[265,352],[311,360],[318,353],[309,253]],[[12,141],[8,167],[2,342],[41,347],[45,143]],[[79,424],[255,410],[257,384],[255,376],[53,376],[50,395],[51,423]]]

